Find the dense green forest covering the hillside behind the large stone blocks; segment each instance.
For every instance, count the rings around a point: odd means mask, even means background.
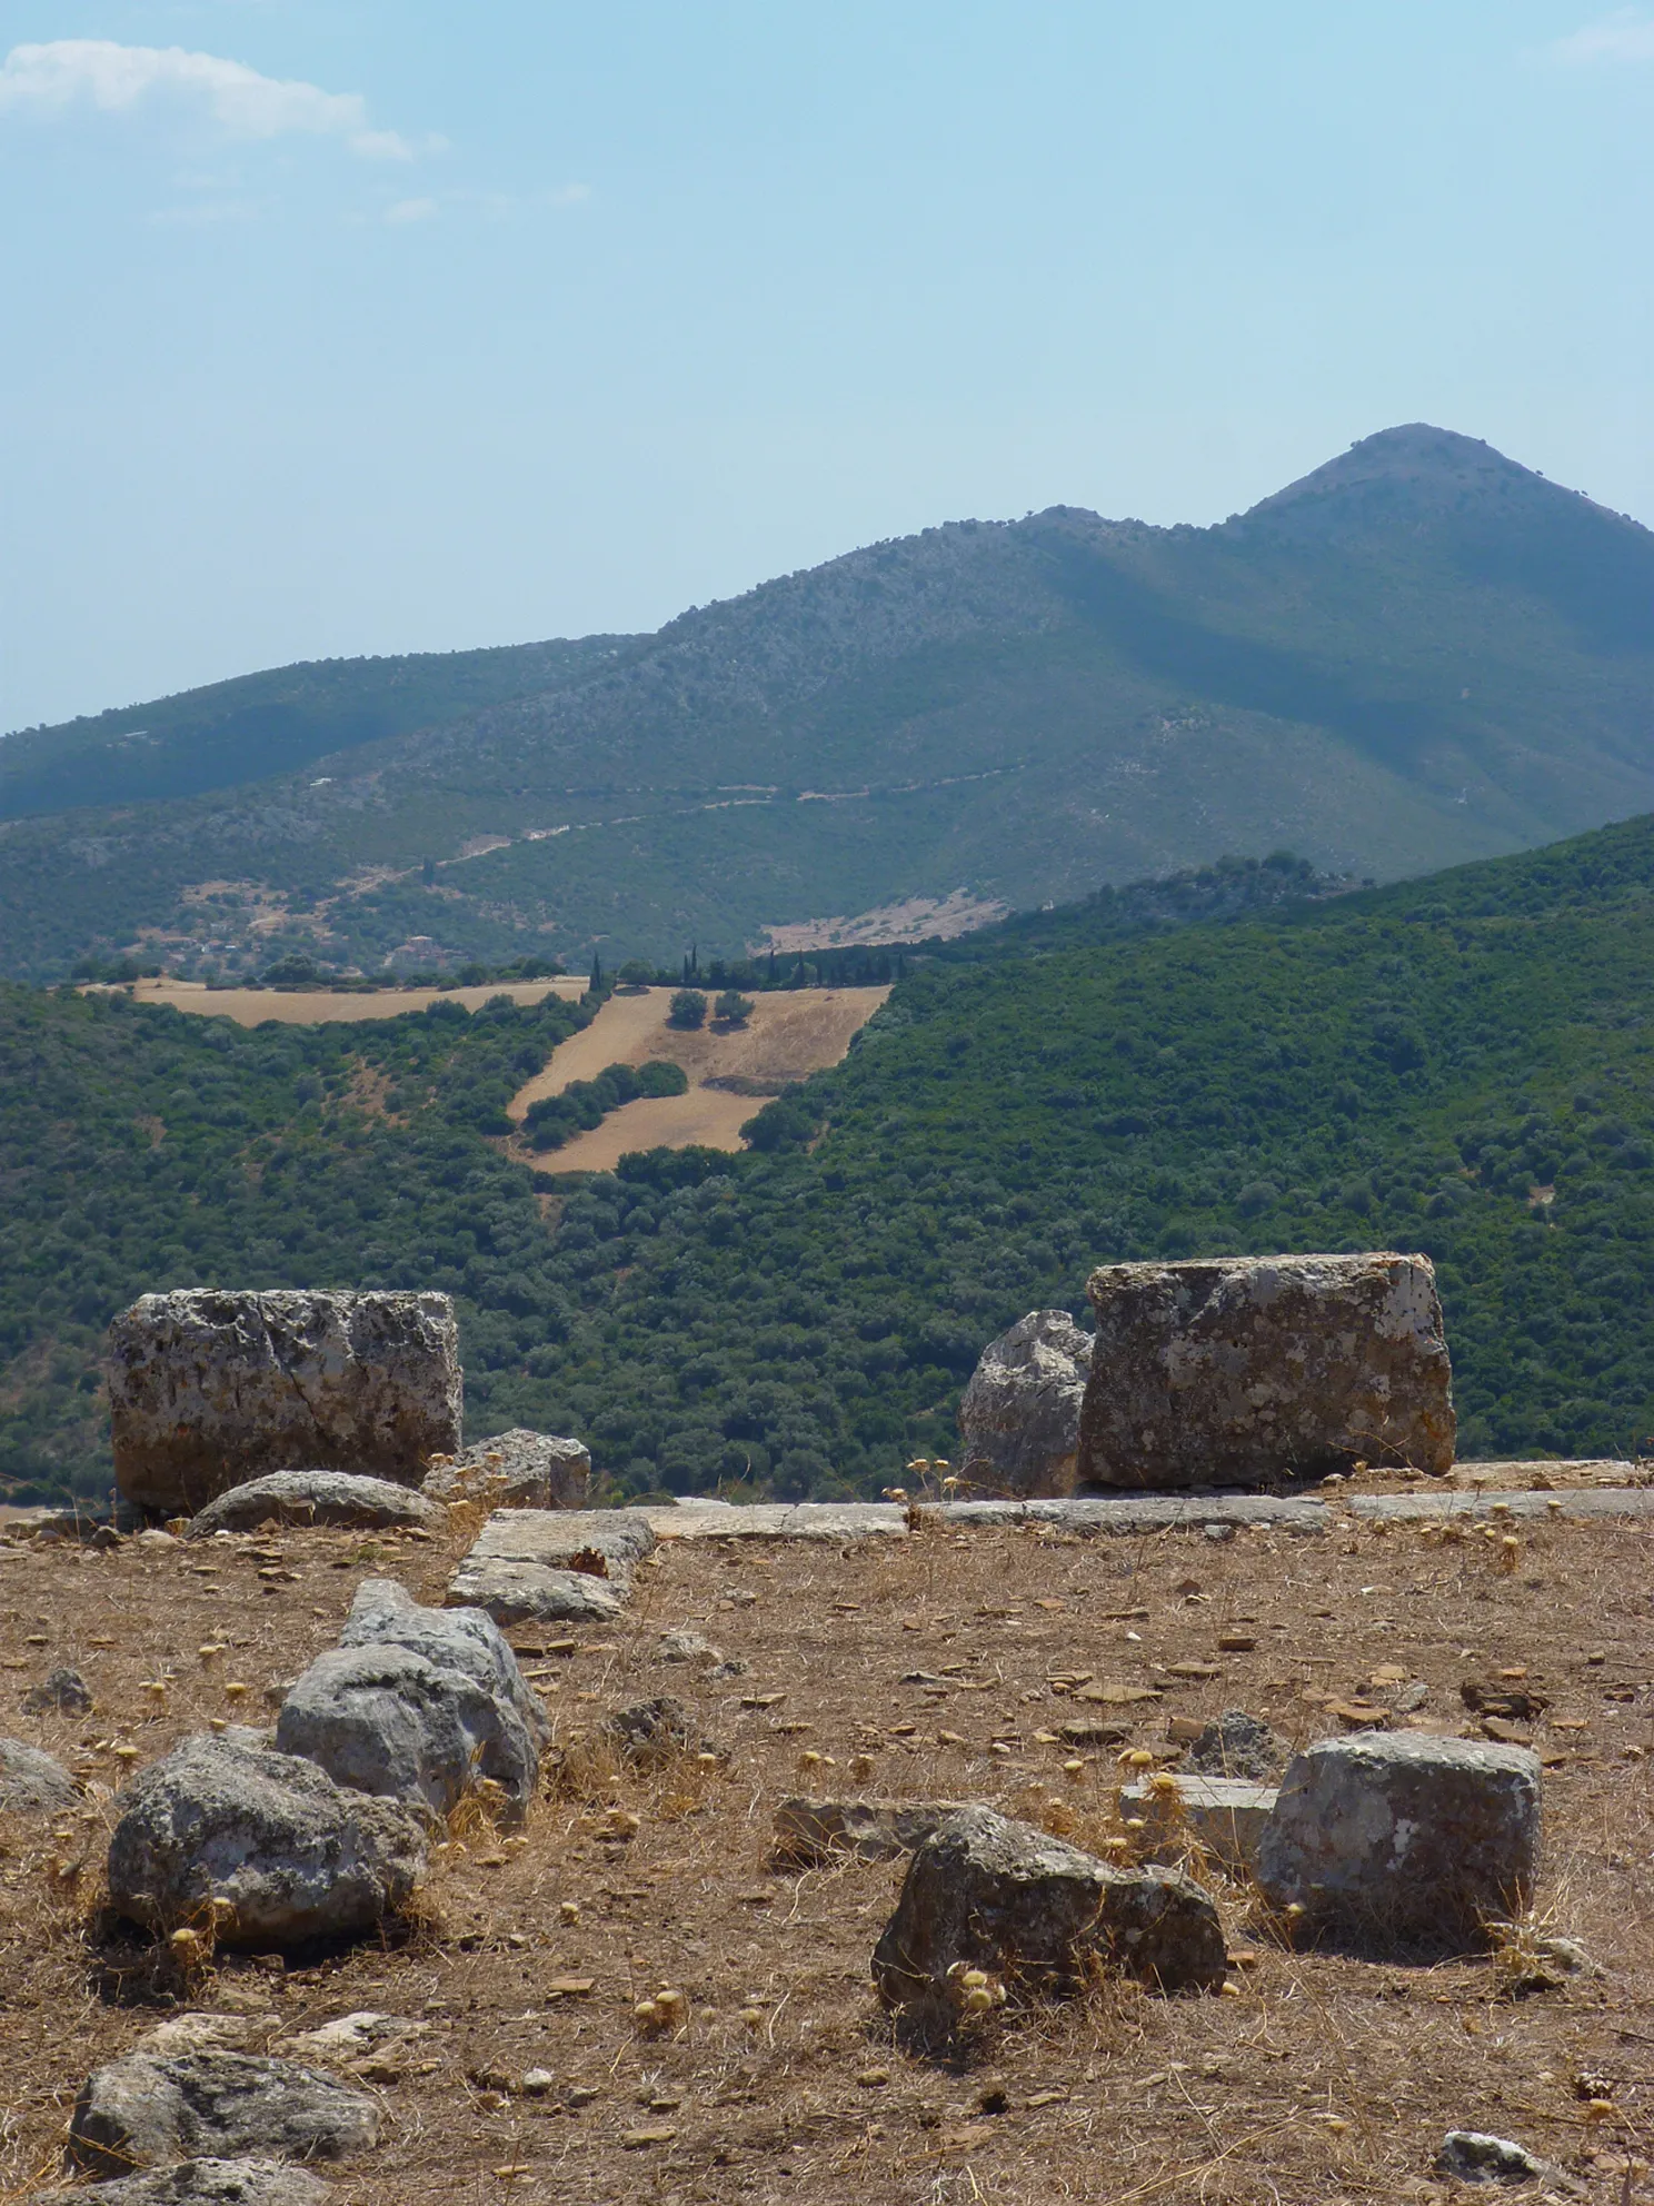
[[[0,1460],[106,1480],[97,1341],[139,1288],[359,1282],[461,1297],[474,1432],[578,1432],[622,1491],[876,1491],[1092,1264],[1356,1246],[1436,1257],[1464,1454],[1641,1447],[1654,821],[1167,924],[1228,896],[931,960],[750,1154],[587,1180],[487,1141],[573,1006],[243,1032],[9,988]]]

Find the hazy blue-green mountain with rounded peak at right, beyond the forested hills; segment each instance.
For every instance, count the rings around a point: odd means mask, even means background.
[[[730,953],[1226,849],[1396,878],[1654,803],[1654,536],[1422,426],[1220,527],[953,523],[598,642],[302,774],[13,821],[7,971]]]

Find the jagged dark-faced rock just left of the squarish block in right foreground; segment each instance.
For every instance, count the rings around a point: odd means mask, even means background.
[[[1217,1908],[1171,1868],[1109,1868],[1078,1846],[966,1807],[906,1866],[873,1950],[891,2007],[942,2007],[948,1972],[979,1968],[1010,1996],[1070,1994],[1087,1963],[1164,1992],[1215,1990],[1228,1955]]]

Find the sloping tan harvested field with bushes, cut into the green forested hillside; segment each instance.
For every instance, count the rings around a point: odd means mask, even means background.
[[[644,1096],[609,1112],[600,1127],[560,1149],[538,1154],[518,1143],[512,1156],[538,1171],[613,1171],[631,1149],[739,1149],[741,1127],[781,1094],[825,1065],[836,1065],[880,1008],[889,988],[801,988],[752,999],[745,1026],[666,1024],[670,988],[617,990],[591,1026],[569,1035],[551,1061],[509,1103],[518,1123],[540,1096],[562,1094],[609,1065],[670,1059],[688,1074],[688,1094]],[[721,1083],[732,1083],[730,1088]]]

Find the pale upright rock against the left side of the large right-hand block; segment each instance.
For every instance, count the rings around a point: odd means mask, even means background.
[[[1067,1310],[1030,1310],[988,1341],[959,1403],[962,1482],[973,1493],[1074,1491],[1092,1337]]]

